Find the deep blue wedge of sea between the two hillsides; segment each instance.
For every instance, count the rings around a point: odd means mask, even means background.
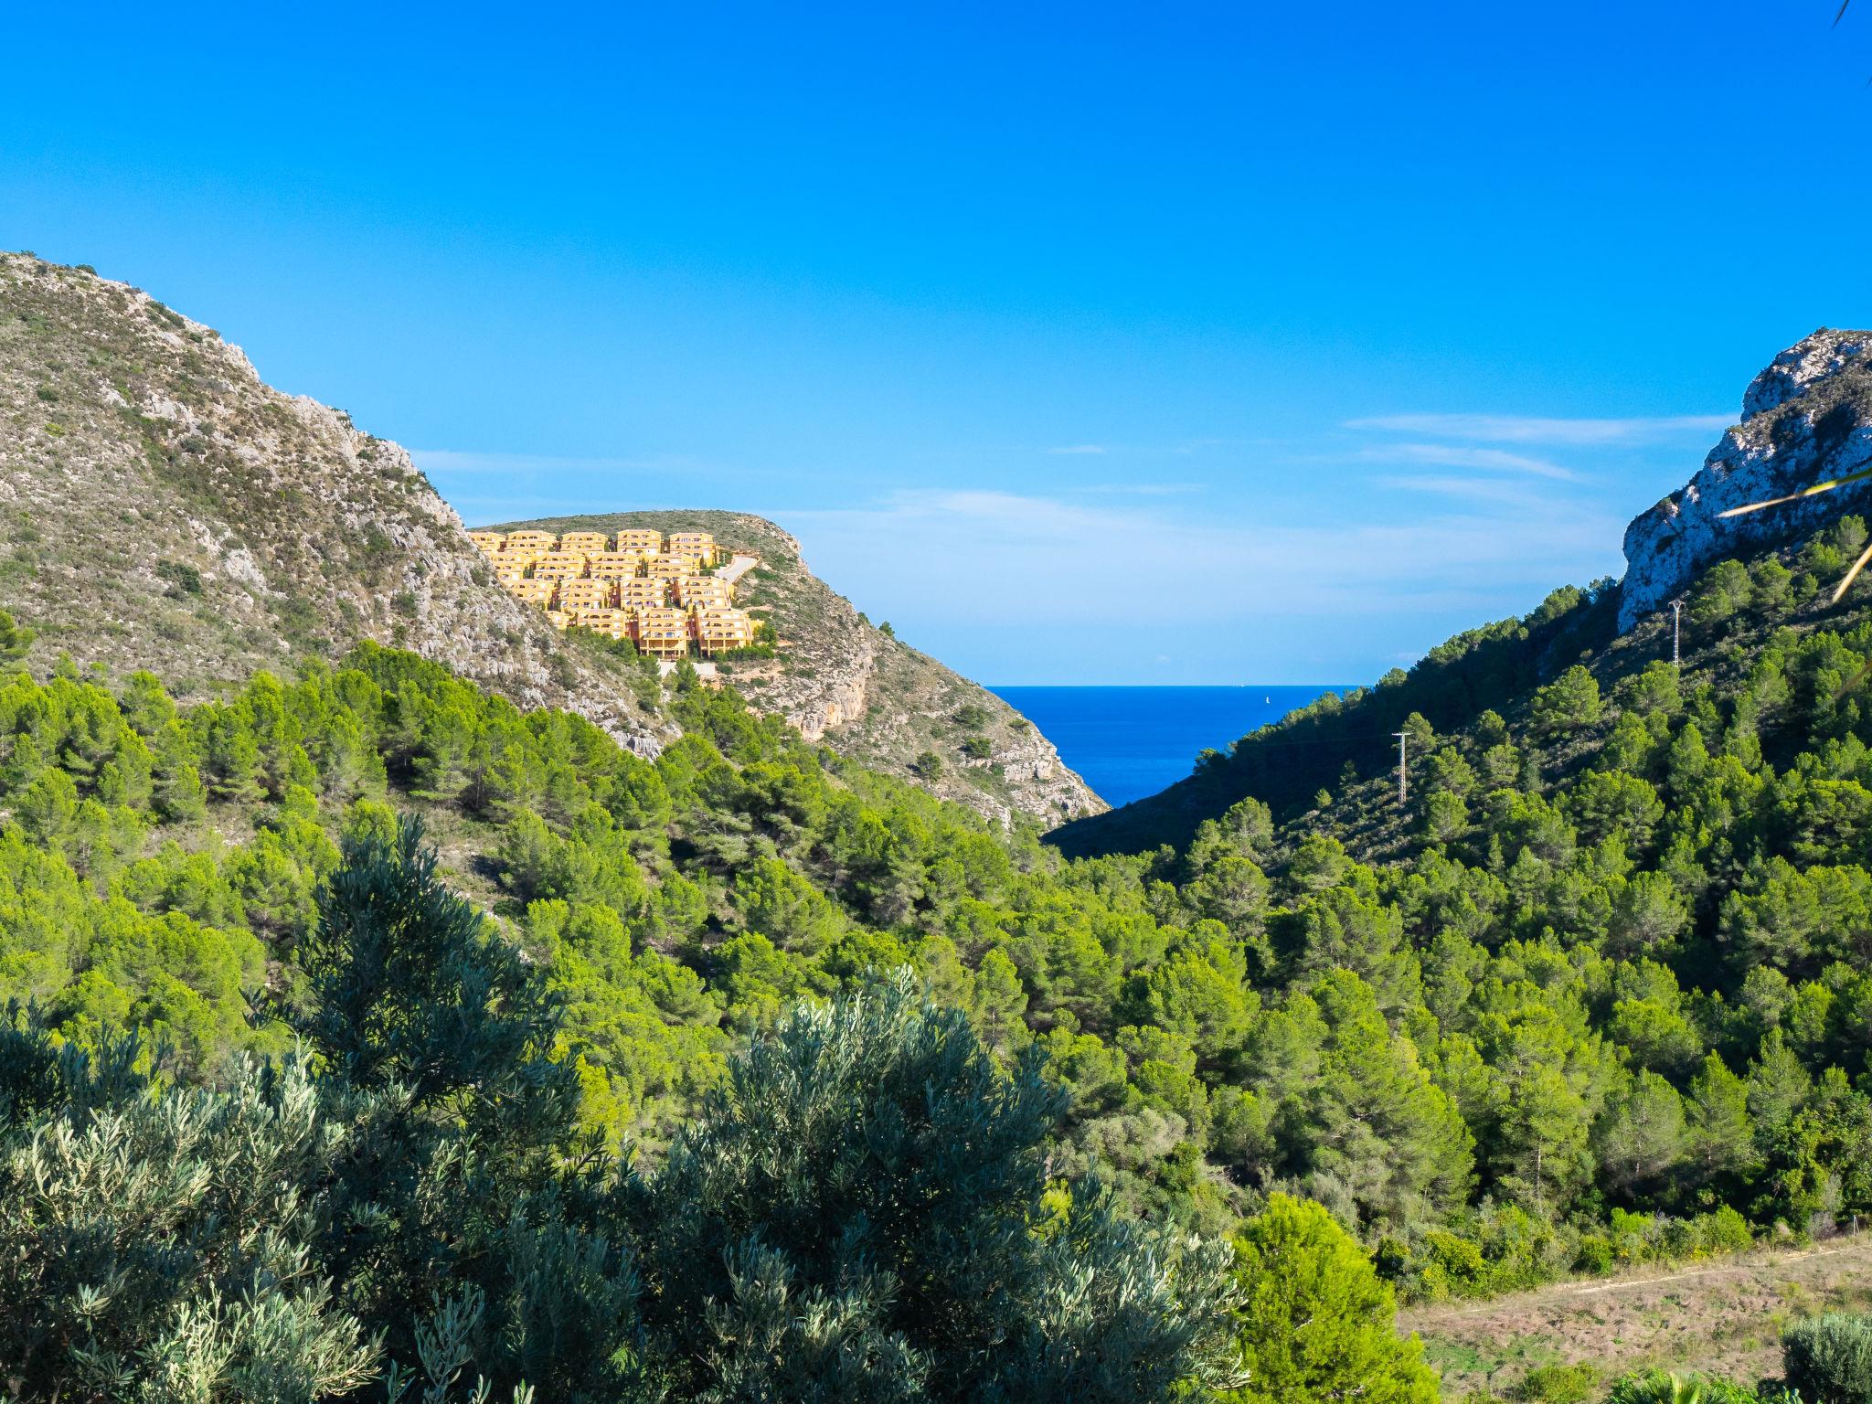
[[[1206,749],[1226,751],[1256,726],[1280,721],[1322,693],[1307,687],[990,687],[1060,747],[1067,766],[1112,805],[1157,794],[1196,766]]]

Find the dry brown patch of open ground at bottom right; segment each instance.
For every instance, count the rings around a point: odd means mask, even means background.
[[[1872,1307],[1872,1234],[1668,1271],[1556,1282],[1494,1301],[1404,1310],[1443,1372],[1443,1398],[1507,1391],[1528,1370],[1591,1361],[1606,1380],[1651,1365],[1754,1382],[1780,1370],[1780,1327]]]

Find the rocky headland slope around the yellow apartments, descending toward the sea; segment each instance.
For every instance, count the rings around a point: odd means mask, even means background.
[[[771,661],[723,665],[756,709],[781,713],[809,741],[1002,818],[1026,812],[1060,822],[1104,809],[1037,726],[994,693],[872,625],[812,575],[794,537],[762,517],[627,511],[489,526],[713,532],[730,550],[760,558],[760,567],[739,582],[738,599],[769,620],[781,638]],[[987,754],[970,754],[970,738],[983,738]],[[940,768],[917,764],[927,756],[936,756]]]

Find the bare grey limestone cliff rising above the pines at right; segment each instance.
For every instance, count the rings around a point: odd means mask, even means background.
[[[1619,627],[1659,610],[1704,567],[1872,502],[1872,481],[1724,519],[1872,464],[1872,331],[1821,329],[1790,346],[1743,395],[1730,429],[1677,492],[1625,530]]]

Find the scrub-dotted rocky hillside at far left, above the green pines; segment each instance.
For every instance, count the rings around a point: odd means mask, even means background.
[[[137,288],[0,255],[0,608],[37,663],[193,696],[369,638],[646,753],[676,734],[640,674],[492,584],[408,453]]]

